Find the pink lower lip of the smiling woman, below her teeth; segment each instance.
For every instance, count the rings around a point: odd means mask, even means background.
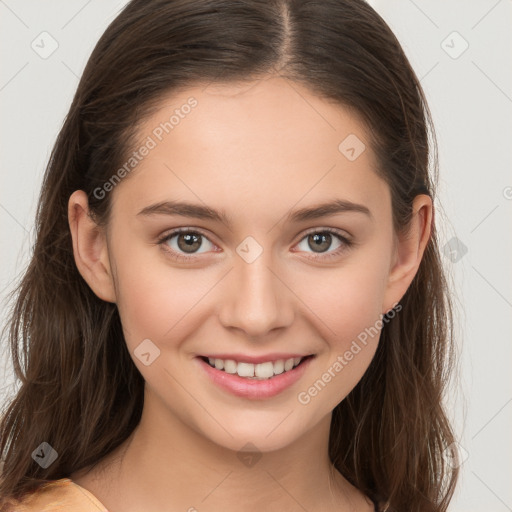
[[[223,370],[217,370],[217,368],[213,368],[200,357],[196,357],[195,360],[198,361],[199,366],[206,372],[208,377],[222,389],[243,398],[263,400],[276,396],[295,384],[304,375],[313,357],[308,357],[293,370],[265,380],[244,378],[236,373],[226,373]]]

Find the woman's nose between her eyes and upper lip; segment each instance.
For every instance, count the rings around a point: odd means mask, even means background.
[[[293,293],[263,253],[252,263],[236,256],[235,268],[222,290],[219,318],[227,329],[238,329],[253,340],[291,325]],[[287,286],[288,285],[288,286]]]

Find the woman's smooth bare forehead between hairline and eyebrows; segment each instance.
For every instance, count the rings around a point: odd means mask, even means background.
[[[263,215],[334,198],[382,203],[387,195],[358,117],[282,78],[170,94],[138,139],[144,156],[114,191],[132,210],[186,198]]]

